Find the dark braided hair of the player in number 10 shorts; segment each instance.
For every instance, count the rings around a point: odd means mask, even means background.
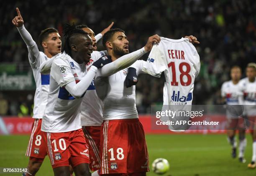
[[[64,36],[64,47],[62,47],[62,52],[65,51],[69,56],[71,55],[71,44],[73,44],[74,39],[80,35],[88,35],[87,32],[84,32],[82,29],[77,29],[76,26],[64,24],[63,25],[63,36]]]

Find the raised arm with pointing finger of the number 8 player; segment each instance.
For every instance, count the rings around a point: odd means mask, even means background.
[[[34,63],[36,61],[36,57],[38,57],[38,55],[39,55],[38,47],[36,45],[36,42],[31,37],[30,33],[24,27],[24,21],[20,15],[20,10],[18,9],[18,7],[16,7],[16,11],[17,11],[18,16],[13,18],[13,20],[12,20],[13,25],[15,25],[17,27],[17,29],[20,33],[20,36],[26,43],[26,45],[28,47],[28,51],[29,51],[29,58],[31,59],[31,62]]]

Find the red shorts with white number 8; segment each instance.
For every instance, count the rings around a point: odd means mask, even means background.
[[[44,157],[47,155],[47,143],[42,139],[45,133],[41,131],[41,124],[42,119],[34,119],[26,156],[30,156],[30,159],[43,162]]]

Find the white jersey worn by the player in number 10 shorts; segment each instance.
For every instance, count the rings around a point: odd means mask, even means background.
[[[84,63],[78,64],[65,53],[56,55],[51,65],[50,91],[42,121],[42,131],[67,132],[82,128],[80,119],[82,98],[72,97],[65,89],[65,85],[74,80],[76,83],[79,82],[86,73]]]

